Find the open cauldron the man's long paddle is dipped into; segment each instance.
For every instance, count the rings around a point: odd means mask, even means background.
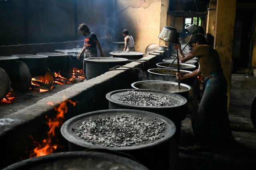
[[[189,96],[189,91],[192,90],[192,87],[190,85],[180,83],[181,89],[179,89],[177,82],[160,81],[160,80],[137,81],[132,83],[131,87],[135,89],[153,89],[153,90],[175,93],[185,97],[187,100]]]

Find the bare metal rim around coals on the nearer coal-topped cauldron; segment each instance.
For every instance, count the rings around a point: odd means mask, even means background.
[[[106,115],[106,116],[103,116]],[[144,118],[147,117],[147,119],[156,119],[158,122],[164,122],[166,125],[166,130],[163,131],[164,137],[155,140],[152,143],[144,143],[141,145],[137,146],[121,146],[121,147],[111,147],[111,146],[101,146],[101,145],[94,145],[89,142],[86,142],[86,140],[81,139],[77,136],[77,132],[75,132],[74,128],[79,128],[77,125],[81,125],[81,123],[85,120],[93,120],[93,117],[96,119],[99,119],[99,117],[116,117],[116,116],[137,116],[137,117],[142,117],[143,115],[145,116]],[[145,119],[144,119],[145,120]],[[152,120],[150,120],[152,121]],[[173,136],[173,134],[176,131],[176,127],[174,123],[166,118],[163,117],[162,115],[158,115],[156,113],[151,113],[148,111],[140,111],[140,110],[134,110],[134,109],[106,109],[106,110],[100,110],[100,111],[92,111],[89,113],[84,113],[78,116],[75,116],[68,121],[66,121],[62,127],[60,128],[60,132],[63,137],[66,138],[69,142],[76,144],[78,146],[82,146],[84,148],[103,148],[103,149],[110,149],[110,150],[137,150],[137,149],[143,149],[143,148],[150,148],[153,147],[157,144],[160,144],[162,142],[165,142]]]

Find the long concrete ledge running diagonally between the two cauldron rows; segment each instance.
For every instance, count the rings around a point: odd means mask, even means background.
[[[156,67],[157,61],[162,59],[163,54],[148,55],[141,59],[144,61],[143,63],[131,62],[125,67],[141,68],[139,74],[147,75],[147,69]],[[134,70],[127,68],[108,71],[0,119],[0,141],[4,146],[2,149],[4,158],[0,168],[29,158],[29,152],[35,148],[32,137],[35,141],[44,139],[49,130],[48,125],[46,125],[48,121],[46,116],[48,118],[56,117],[56,111],[52,105],[47,105],[48,102],[53,102],[54,106],[58,106],[67,99],[77,102],[75,107],[67,102],[68,111],[63,122],[82,113],[108,109],[109,101],[105,97],[107,93],[118,89],[132,89],[131,83],[145,80],[141,79],[140,75],[136,75]],[[68,149],[67,141],[60,134],[60,127],[56,131],[56,138],[63,146],[63,148],[58,148],[56,152],[65,152]]]

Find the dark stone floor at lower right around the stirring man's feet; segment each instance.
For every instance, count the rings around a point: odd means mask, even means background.
[[[256,170],[256,130],[250,118],[250,108],[256,95],[256,77],[232,74],[229,119],[230,142],[219,142],[201,152],[184,149],[194,142],[189,115],[182,122],[179,160],[176,170]]]

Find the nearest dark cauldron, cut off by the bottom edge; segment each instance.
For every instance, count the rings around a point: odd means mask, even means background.
[[[59,152],[22,160],[3,170],[148,170],[134,160],[104,152]]]

